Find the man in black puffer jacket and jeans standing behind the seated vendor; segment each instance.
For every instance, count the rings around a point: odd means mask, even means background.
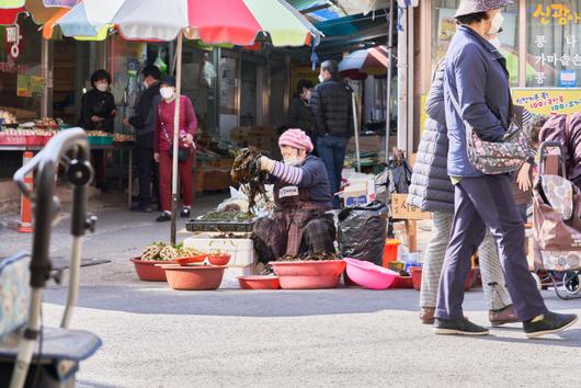
[[[353,135],[353,90],[339,80],[339,66],[334,60],[321,64],[319,83],[311,92],[310,107],[315,116],[317,151],[327,168],[331,194],[341,187],[345,151]],[[339,208],[339,197],[333,197]]]

